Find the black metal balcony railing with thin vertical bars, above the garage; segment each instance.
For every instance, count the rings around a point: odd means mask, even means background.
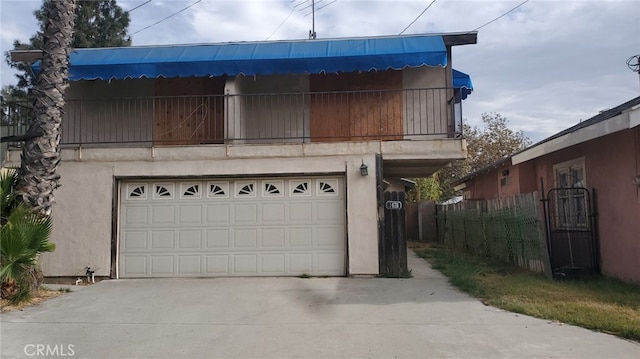
[[[2,102],[3,136],[31,108]],[[451,88],[67,100],[63,145],[415,140],[461,135]]]

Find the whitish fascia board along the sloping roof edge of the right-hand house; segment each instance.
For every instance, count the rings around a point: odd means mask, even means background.
[[[634,114],[634,116],[636,115]],[[564,136],[554,138],[551,141],[530,147],[527,150],[513,155],[513,157],[511,157],[511,163],[517,165],[519,163],[526,162],[534,158],[538,158],[540,156],[562,150],[564,148],[575,146],[579,143],[629,129],[629,117],[630,112],[624,112],[618,116],[612,117],[602,122],[598,122],[591,126],[587,126],[574,132],[567,133]]]

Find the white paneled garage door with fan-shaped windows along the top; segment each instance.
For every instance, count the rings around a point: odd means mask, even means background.
[[[119,275],[345,275],[343,178],[121,184]]]

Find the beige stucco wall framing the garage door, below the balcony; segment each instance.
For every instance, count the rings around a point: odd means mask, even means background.
[[[346,177],[348,274],[375,275],[376,181],[373,175],[360,175],[362,161],[373,167],[375,157],[367,144],[359,146],[352,148],[357,155],[298,158],[283,158],[286,149],[283,157],[265,157],[262,146],[239,146],[237,152],[223,146],[64,150],[59,168],[63,185],[56,192],[53,208],[51,239],[57,248],[42,256],[43,270],[47,276],[80,276],[84,267],[91,266],[98,268],[96,275],[109,275],[112,218],[118,218],[114,214],[118,179],[331,173]]]

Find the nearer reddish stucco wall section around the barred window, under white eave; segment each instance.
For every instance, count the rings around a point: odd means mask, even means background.
[[[595,188],[602,272],[640,283],[640,189],[632,183],[638,175],[637,141],[626,130],[584,142],[535,160],[545,189],[556,186],[553,165],[585,158],[587,188]],[[637,135],[635,135],[637,136]]]

